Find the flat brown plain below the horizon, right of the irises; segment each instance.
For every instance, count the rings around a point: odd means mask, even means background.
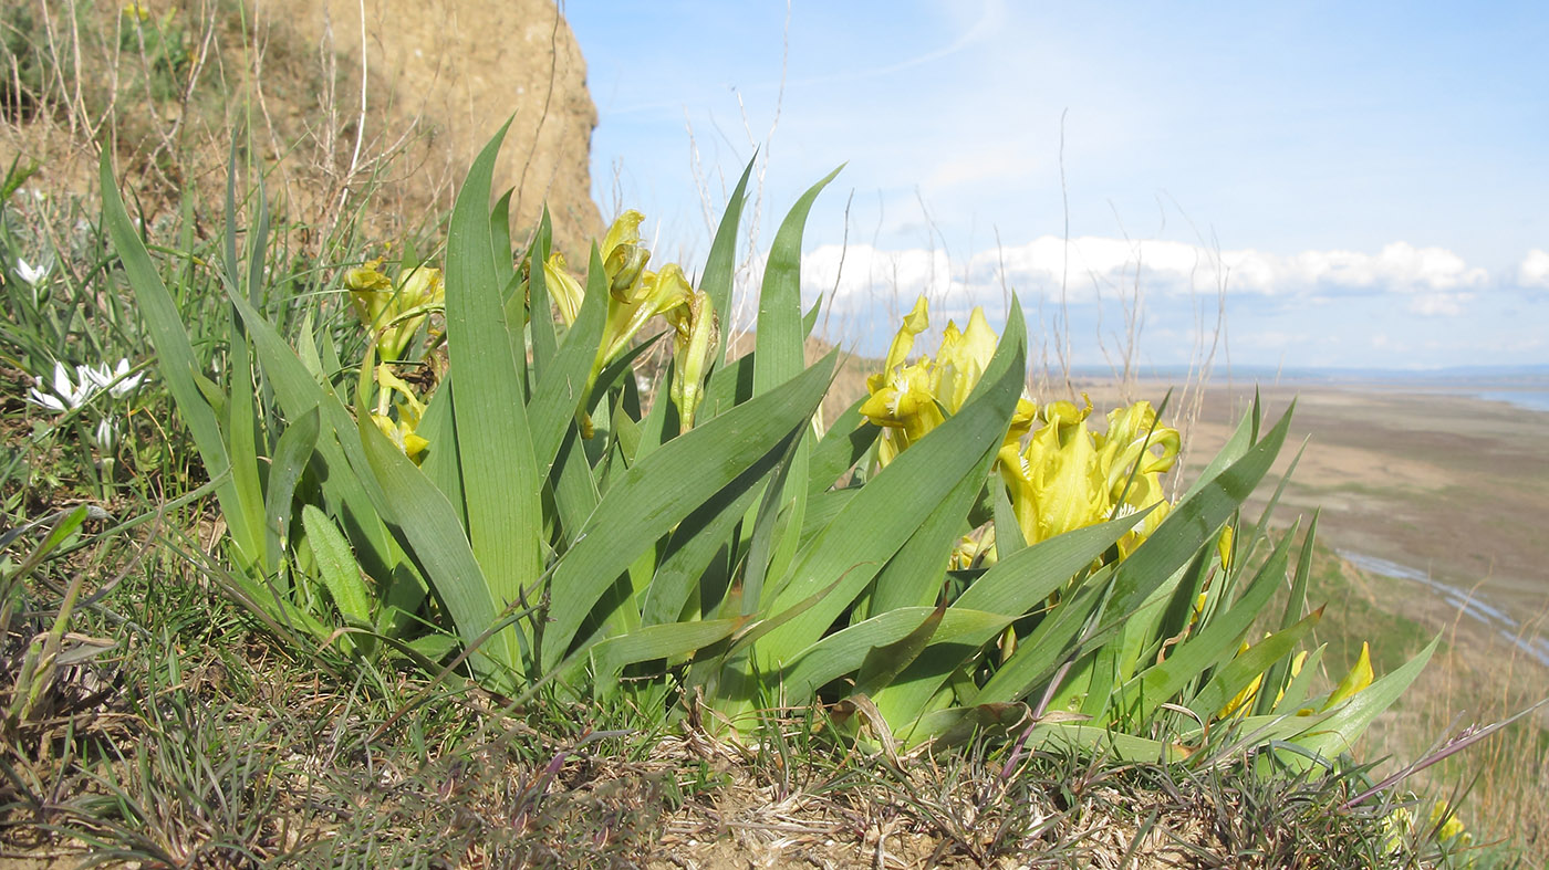
[[[1252,387],[1207,392],[1188,466],[1230,435]],[[1321,508],[1318,536],[1506,605],[1549,608],[1549,415],[1506,402],[1385,385],[1267,387],[1278,416],[1295,398],[1284,472],[1307,449],[1278,522]],[[1272,472],[1272,474],[1275,474]],[[1272,492],[1266,486],[1259,498]],[[1416,598],[1422,587],[1416,587]]]

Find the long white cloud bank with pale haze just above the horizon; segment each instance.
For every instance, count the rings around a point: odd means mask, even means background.
[[[917,296],[931,299],[942,324],[962,320],[974,305],[999,322],[1016,293],[1024,310],[1067,308],[1075,344],[1087,345],[1073,348],[1077,365],[1112,359],[1125,341],[1114,327],[1126,316],[1142,319],[1151,337],[1162,341],[1143,353],[1146,362],[1188,364],[1202,339],[1211,337],[1218,305],[1228,311],[1222,337],[1250,365],[1530,365],[1543,359],[1546,320],[1523,324],[1515,339],[1473,341],[1456,334],[1456,325],[1476,316],[1510,320],[1521,311],[1543,313],[1549,252],[1530,251],[1520,265],[1492,274],[1444,248],[1403,241],[1376,254],[1275,255],[1166,240],[1077,237],[1067,243],[1046,235],[957,263],[942,249],[819,245],[802,257],[802,285],[807,303],[821,297],[841,325],[833,337],[866,353],[886,347],[898,313]],[[1044,314],[1046,328],[1052,319]],[[1448,356],[1448,348],[1462,353]]]

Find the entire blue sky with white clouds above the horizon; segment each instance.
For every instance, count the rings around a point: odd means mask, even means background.
[[[1005,289],[1101,364],[1549,364],[1541,3],[582,3],[604,217],[692,272],[761,149],[754,249],[877,353]],[[787,23],[788,22],[788,23]],[[1063,149],[1063,156],[1061,156]],[[1063,183],[1061,183],[1063,178]],[[841,266],[843,260],[843,269]],[[1053,344],[1053,342],[1049,342]]]

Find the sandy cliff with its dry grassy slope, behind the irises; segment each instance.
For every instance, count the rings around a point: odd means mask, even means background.
[[[496,195],[513,190],[517,240],[545,201],[562,249],[601,229],[596,107],[553,0],[141,0],[143,23],[116,5],[5,6],[0,169],[36,163],[42,190],[88,192],[112,142],[143,204],[218,192],[235,135],[290,218],[328,226],[372,189],[361,241],[386,241],[445,217],[513,118]]]

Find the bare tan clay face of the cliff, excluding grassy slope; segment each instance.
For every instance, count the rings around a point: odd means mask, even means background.
[[[601,231],[590,175],[596,105],[551,0],[266,0],[259,9],[260,22],[294,26],[347,65],[361,62],[364,37],[372,115],[389,133],[410,124],[431,133],[400,180],[410,209],[449,209],[454,183],[511,118],[494,186],[514,190],[513,229],[534,226],[547,201],[562,248],[579,251]]]

